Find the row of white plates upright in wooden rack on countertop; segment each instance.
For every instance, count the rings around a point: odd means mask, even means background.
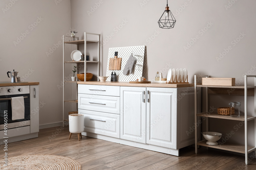
[[[186,82],[188,78],[187,69],[169,69],[167,73],[167,83],[181,83]]]

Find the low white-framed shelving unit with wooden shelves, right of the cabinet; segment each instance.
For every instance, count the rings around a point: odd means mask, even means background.
[[[244,121],[244,139],[245,139],[245,145],[236,144],[236,143],[224,143],[223,145],[207,145],[207,140],[199,140],[200,139],[200,133],[198,133],[197,126],[195,126],[195,152],[197,153],[197,146],[205,146],[210,148],[216,148],[216,149],[222,149],[232,152],[238,152],[238,153],[244,153],[245,154],[245,163],[248,164],[248,154],[250,152],[256,151],[256,135],[254,130],[254,146],[248,145],[248,121],[254,120],[254,129],[256,127],[256,75],[245,75],[244,76],[244,86],[208,86],[208,85],[201,85],[201,82],[199,82],[199,77],[208,77],[208,75],[195,75],[195,90],[198,87],[204,87],[206,88],[206,110],[207,112],[197,113],[197,96],[195,95],[195,124],[198,122],[198,117],[206,117],[206,131],[209,131],[209,124],[208,124],[208,118],[213,117],[217,119],[228,119],[228,120],[234,120],[234,121]],[[254,77],[254,86],[248,86],[247,80],[248,77]],[[244,116],[240,117],[230,117],[226,115],[219,115],[218,113],[210,113],[208,109],[208,88],[233,88],[233,89],[244,89]],[[250,113],[248,115],[248,107],[247,107],[247,101],[248,101],[248,92],[247,89],[254,88],[254,113]],[[214,131],[214,130],[210,130]]]

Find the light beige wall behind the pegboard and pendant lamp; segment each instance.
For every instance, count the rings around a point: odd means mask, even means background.
[[[165,6],[166,0],[71,0],[71,26],[81,38],[85,31],[101,34],[101,75],[106,74],[109,48],[138,45],[147,46],[148,80],[157,71],[166,77],[169,68],[186,68],[191,83],[195,74],[207,74],[234,77],[243,85],[244,74],[256,74],[256,1],[169,1],[177,20],[173,29],[158,27]],[[227,107],[232,99],[243,102],[241,97],[212,96],[209,106]],[[212,119],[210,126],[226,134],[237,123]],[[243,143],[243,132],[240,128],[232,140]]]

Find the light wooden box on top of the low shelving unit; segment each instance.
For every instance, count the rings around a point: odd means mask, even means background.
[[[202,85],[234,86],[235,83],[235,78],[202,78]]]

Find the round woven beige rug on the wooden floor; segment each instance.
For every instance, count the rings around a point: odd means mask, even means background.
[[[4,159],[0,162],[1,170],[81,170],[77,161],[56,155],[23,155],[8,157],[7,166]]]

